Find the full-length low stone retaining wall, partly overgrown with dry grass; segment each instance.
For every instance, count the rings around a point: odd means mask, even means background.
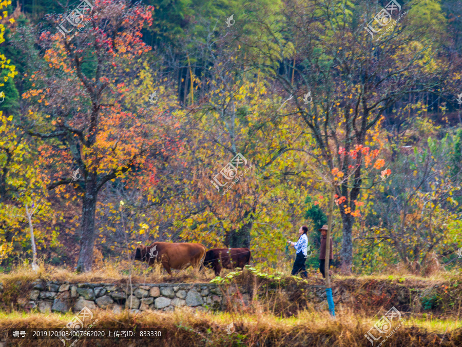
[[[64,281],[37,280],[33,283],[16,281],[5,286],[0,282],[0,310],[29,310],[40,312],[80,311],[83,307],[102,308],[121,312],[146,310],[172,311],[179,307],[196,310],[246,310],[257,300],[270,303],[275,312],[296,314],[296,311],[312,306],[326,310],[327,300],[323,285],[300,282],[260,282],[217,285],[213,283],[69,283]],[[370,281],[357,283],[352,280],[333,283],[333,299],[342,307],[369,309],[373,305],[394,305],[398,309],[422,312],[422,302],[437,295],[445,297],[441,283],[419,284],[409,287],[405,283]],[[450,285],[451,283],[448,283]],[[254,285],[257,292],[254,293]],[[446,287],[445,287],[446,288]],[[354,295],[352,295],[354,293]],[[446,298],[446,297],[445,297]],[[454,302],[448,297],[445,302]],[[456,300],[457,301],[457,300]],[[432,308],[434,310],[434,308]],[[442,305],[436,310],[446,310]]]

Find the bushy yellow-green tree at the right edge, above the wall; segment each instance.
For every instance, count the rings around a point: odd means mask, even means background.
[[[457,138],[451,144],[447,133],[439,141],[420,139],[408,153],[402,150],[393,163],[393,177],[371,196],[375,218],[369,218],[372,227],[358,237],[369,250],[386,244],[414,272],[428,271],[433,252],[448,256],[457,250],[461,176],[451,168],[457,147]],[[373,254],[367,253],[364,265]]]

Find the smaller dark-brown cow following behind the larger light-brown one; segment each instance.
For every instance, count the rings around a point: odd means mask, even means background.
[[[231,257],[229,258],[229,255]],[[205,253],[204,266],[213,269],[215,276],[220,275],[221,268],[243,269],[251,258],[251,252],[248,248],[214,248]]]

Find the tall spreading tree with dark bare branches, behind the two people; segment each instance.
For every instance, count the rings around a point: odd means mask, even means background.
[[[319,164],[346,173],[354,163],[350,158],[343,160],[340,149],[349,153],[359,148],[360,159],[362,150],[373,145],[368,134],[383,113],[410,93],[439,93],[451,67],[437,57],[438,44],[401,27],[406,17],[376,42],[362,21],[358,25],[353,20],[352,4],[343,3],[290,2],[282,38],[275,35],[270,42],[262,42],[256,37],[246,44],[258,47],[267,57],[257,67],[272,73],[286,95],[294,96],[291,113],[315,139]],[[285,58],[289,53],[292,59]],[[347,273],[353,264],[355,201],[371,184],[364,179],[363,168],[363,164],[357,166],[353,180],[339,187],[339,197],[345,198],[340,206],[341,257]]]

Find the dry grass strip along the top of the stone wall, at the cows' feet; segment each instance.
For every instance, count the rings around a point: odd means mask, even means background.
[[[261,272],[267,274],[282,274],[285,276],[291,275],[292,264],[282,259],[274,264],[274,268],[267,267],[264,264],[253,264],[252,266]],[[221,276],[226,276],[231,270],[223,269]],[[162,268],[161,264],[156,264],[153,267],[148,267],[146,263],[133,260],[101,260],[91,272],[76,273],[70,268],[54,267],[45,264],[42,260],[39,262],[37,272],[32,271],[30,264],[19,264],[14,266],[9,273],[0,273],[0,282],[13,281],[33,281],[41,278],[45,280],[68,281],[71,283],[77,282],[132,282],[132,283],[161,283],[161,282],[182,282],[182,283],[200,283],[208,282],[215,277],[213,271],[204,269],[201,272],[194,271],[191,267],[184,270],[173,270],[174,277],[171,277]],[[323,279],[318,269],[309,269],[308,281],[312,284],[322,284]],[[452,281],[461,278],[459,271],[433,271],[427,276],[421,276],[409,271],[402,264],[394,264],[387,267],[386,270],[373,273],[371,275],[352,274],[348,276],[342,275],[337,269],[331,269],[332,280],[387,280],[390,278],[404,278],[410,282],[426,282],[439,283],[443,281]],[[390,277],[391,276],[391,277]]]

